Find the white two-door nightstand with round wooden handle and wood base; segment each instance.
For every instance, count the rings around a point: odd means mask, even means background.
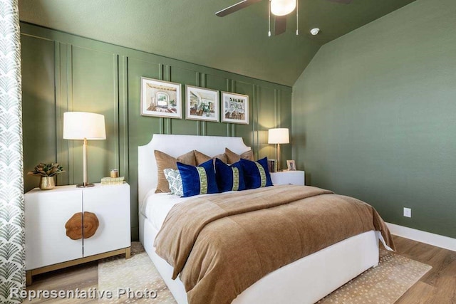
[[[98,219],[92,236],[86,212]],[[71,218],[76,220],[66,227]],[[130,258],[129,184],[35,188],[25,194],[25,219],[27,285],[39,273],[122,253]]]

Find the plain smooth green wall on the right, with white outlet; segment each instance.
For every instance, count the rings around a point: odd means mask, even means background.
[[[454,0],[418,0],[318,51],[293,87],[308,184],[456,238],[455,28]]]

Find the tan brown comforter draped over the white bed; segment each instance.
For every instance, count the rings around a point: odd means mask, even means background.
[[[231,303],[271,271],[366,231],[390,232],[372,206],[316,187],[283,185],[190,199],[155,239],[190,304]]]

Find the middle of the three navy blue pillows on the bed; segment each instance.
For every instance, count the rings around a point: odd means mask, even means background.
[[[244,170],[241,162],[235,162],[230,166],[216,158],[215,179],[217,179],[220,192],[245,190]]]

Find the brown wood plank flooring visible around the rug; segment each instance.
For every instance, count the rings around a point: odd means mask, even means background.
[[[432,266],[396,304],[456,304],[456,251],[393,236],[397,253]],[[98,287],[97,262],[33,277],[28,290],[88,290]],[[98,300],[41,299],[32,303],[98,303]]]

